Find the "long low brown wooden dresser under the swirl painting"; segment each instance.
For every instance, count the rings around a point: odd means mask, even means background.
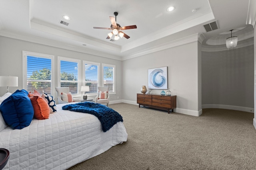
[[[176,96],[163,96],[160,94],[137,94],[137,103],[142,106],[173,111],[176,108]]]

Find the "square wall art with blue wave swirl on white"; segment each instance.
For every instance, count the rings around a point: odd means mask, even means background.
[[[148,88],[167,89],[167,66],[148,69]]]

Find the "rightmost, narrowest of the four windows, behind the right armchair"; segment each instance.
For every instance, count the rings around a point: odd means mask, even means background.
[[[103,70],[103,85],[109,86],[110,94],[114,94],[116,92],[116,82],[115,82],[115,73],[116,66],[109,64],[102,64]]]

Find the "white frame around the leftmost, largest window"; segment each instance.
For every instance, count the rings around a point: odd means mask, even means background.
[[[28,56],[32,57],[39,57],[44,59],[51,59],[51,95],[54,96],[53,88],[55,86],[54,84],[54,55],[48,55],[48,54],[42,54],[42,53],[35,53],[30,51],[22,51],[22,88],[28,89],[27,87],[27,66],[28,66]]]

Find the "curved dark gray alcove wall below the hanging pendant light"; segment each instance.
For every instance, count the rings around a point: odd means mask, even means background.
[[[254,46],[202,51],[202,105],[254,108]]]

